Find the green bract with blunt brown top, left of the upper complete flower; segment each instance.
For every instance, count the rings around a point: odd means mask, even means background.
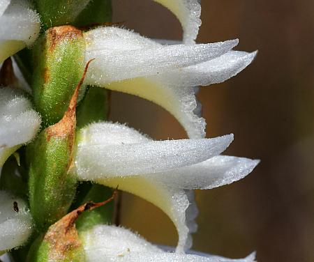
[[[59,121],[84,70],[85,41],[73,26],[48,29],[34,46],[33,101],[45,126]]]

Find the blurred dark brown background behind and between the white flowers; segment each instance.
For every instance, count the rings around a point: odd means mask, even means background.
[[[172,14],[149,0],[114,0],[114,22],[150,38],[180,39]],[[234,133],[225,154],[262,160],[232,185],[197,192],[193,248],[259,261],[314,261],[314,1],[203,0],[198,42],[239,38],[259,50],[244,72],[201,89],[207,137]],[[175,119],[131,95],[112,93],[112,121],[154,139],[184,138]],[[175,245],[169,219],[124,194],[122,224],[148,240]]]

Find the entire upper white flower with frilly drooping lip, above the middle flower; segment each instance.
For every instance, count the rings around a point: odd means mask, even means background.
[[[86,83],[138,95],[169,111],[188,137],[205,137],[204,118],[195,114],[193,86],[237,75],[256,52],[230,51],[238,40],[200,45],[160,45],[137,33],[104,27],[84,33],[85,59],[91,63]]]

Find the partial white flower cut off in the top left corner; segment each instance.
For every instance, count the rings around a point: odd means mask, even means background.
[[[40,31],[39,15],[23,0],[0,1],[0,24],[0,63],[32,45]]]

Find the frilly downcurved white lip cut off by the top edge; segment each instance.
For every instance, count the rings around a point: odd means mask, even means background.
[[[193,44],[201,25],[201,6],[197,0],[154,0],[168,8],[181,22],[184,44]]]

